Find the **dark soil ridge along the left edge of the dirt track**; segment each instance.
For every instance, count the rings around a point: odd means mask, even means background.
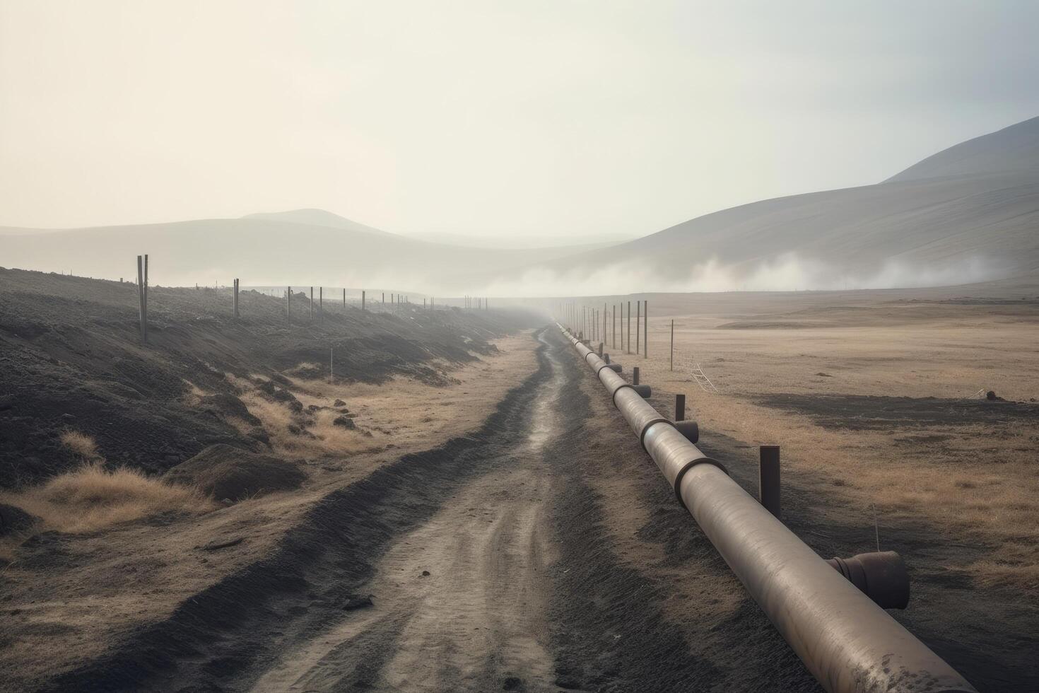
[[[168,619],[128,638],[118,651],[56,677],[44,690],[248,689],[283,651],[342,620],[344,606],[399,537],[430,522],[469,480],[529,445],[531,408],[552,372],[545,350],[538,349],[538,370],[474,434],[406,455],[329,495],[270,558],[201,592]],[[406,637],[402,627],[389,619],[362,634],[357,644],[370,646],[359,649],[375,656],[350,672],[354,683],[372,685],[387,645]]]

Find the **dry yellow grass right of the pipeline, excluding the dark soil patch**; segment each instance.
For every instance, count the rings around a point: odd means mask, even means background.
[[[755,310],[749,303],[740,309]],[[980,584],[1039,588],[1035,430],[1011,423],[823,428],[810,417],[753,401],[771,393],[958,398],[982,388],[1010,399],[1039,397],[1035,316],[882,304],[829,311],[826,319],[836,324],[827,328],[716,329],[740,316],[676,315],[674,372],[670,317],[650,321],[648,359],[615,355],[625,370],[639,366],[643,379],[661,389],[655,400],[662,410],[673,402],[664,392],[684,392],[703,430],[781,445],[787,463],[832,482],[832,492],[852,504],[876,504],[882,516],[924,517],[993,547],[985,560],[954,566]],[[702,366],[721,395],[692,381],[689,359]],[[922,442],[907,441],[907,431]],[[927,443],[930,434],[949,437]]]

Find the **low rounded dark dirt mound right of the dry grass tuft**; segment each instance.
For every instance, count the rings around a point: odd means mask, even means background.
[[[197,486],[217,500],[242,501],[298,488],[307,478],[292,462],[230,445],[212,445],[164,475],[167,481]]]

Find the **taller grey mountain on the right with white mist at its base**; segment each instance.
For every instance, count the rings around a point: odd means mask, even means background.
[[[938,286],[1039,272],[1039,118],[877,185],[779,197],[494,277],[560,294]],[[488,281],[491,281],[488,277]]]

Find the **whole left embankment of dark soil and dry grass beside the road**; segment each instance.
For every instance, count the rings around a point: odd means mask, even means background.
[[[0,678],[18,690],[263,560],[344,485],[472,432],[534,368],[518,313],[311,322],[296,296],[288,326],[284,298],[243,292],[234,321],[228,292],[153,288],[142,347],[135,296],[0,270]]]

